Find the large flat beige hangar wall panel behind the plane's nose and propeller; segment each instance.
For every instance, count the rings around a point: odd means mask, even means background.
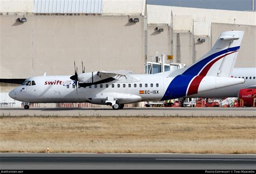
[[[0,78],[128,69],[144,73],[144,17],[0,16]]]

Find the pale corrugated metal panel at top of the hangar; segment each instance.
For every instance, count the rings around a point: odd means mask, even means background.
[[[102,0],[34,1],[34,13],[102,13]]]

